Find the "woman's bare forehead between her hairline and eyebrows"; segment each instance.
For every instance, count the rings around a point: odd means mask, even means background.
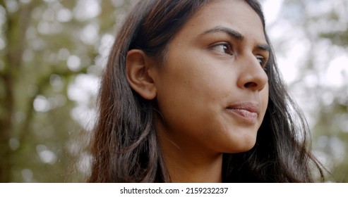
[[[179,34],[184,32],[188,37],[212,27],[227,27],[240,32],[246,39],[266,42],[259,15],[244,0],[210,1],[187,21]]]

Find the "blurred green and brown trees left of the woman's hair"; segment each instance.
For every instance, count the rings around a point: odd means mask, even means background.
[[[0,182],[83,181],[78,136],[132,2],[0,1]]]

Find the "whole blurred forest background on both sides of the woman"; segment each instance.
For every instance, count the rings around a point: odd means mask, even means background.
[[[85,182],[100,75],[134,2],[0,0],[0,182]],[[348,1],[262,2],[313,153],[348,182]]]

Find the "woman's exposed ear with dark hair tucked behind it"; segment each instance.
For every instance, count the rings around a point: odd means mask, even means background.
[[[131,88],[147,100],[152,100],[157,95],[151,71],[154,64],[151,59],[140,49],[128,51],[126,58],[127,80]]]

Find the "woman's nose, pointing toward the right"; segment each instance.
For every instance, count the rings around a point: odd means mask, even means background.
[[[239,88],[261,91],[268,83],[268,75],[255,56],[251,55],[241,59],[239,65]]]

